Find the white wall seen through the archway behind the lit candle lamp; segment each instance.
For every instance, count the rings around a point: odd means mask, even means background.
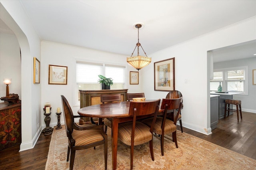
[[[18,94],[21,99],[20,70],[20,45],[16,36],[0,34],[0,97],[6,96],[6,85],[3,80],[9,78],[12,79],[9,93]]]

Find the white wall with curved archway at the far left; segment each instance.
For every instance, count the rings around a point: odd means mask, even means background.
[[[16,35],[22,55],[22,151],[33,148],[41,132],[41,84],[33,84],[33,57],[41,59],[40,39],[20,1],[1,1],[0,18]]]

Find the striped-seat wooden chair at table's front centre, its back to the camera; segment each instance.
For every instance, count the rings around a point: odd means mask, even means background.
[[[130,169],[133,169],[134,146],[149,142],[151,158],[154,161],[153,152],[153,128],[159,110],[160,99],[145,102],[130,102],[129,115],[133,117],[132,122],[121,123],[118,126],[118,138],[124,144],[130,146]],[[154,115],[149,126],[136,121],[137,117]]]

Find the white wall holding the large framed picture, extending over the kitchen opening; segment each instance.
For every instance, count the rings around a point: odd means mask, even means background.
[[[207,51],[256,39],[256,17],[193,40],[158,51],[152,62],[175,57],[175,89],[183,95],[182,125],[210,134],[210,70]],[[154,91],[154,65],[142,69],[147,98],[165,98],[167,92]],[[188,79],[188,83],[184,80]]]

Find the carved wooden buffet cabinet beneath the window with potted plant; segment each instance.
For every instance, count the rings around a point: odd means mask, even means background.
[[[100,103],[101,94],[121,94],[122,101],[127,101],[127,91],[128,89],[114,89],[114,90],[79,90],[80,92],[80,108],[98,105]],[[79,124],[82,122],[90,121],[89,117],[80,119]]]

